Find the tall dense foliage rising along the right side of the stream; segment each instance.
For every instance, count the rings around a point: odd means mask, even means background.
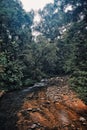
[[[87,1],[54,0],[39,11],[36,26],[50,42],[56,43],[57,74],[70,75],[71,86],[87,101]]]

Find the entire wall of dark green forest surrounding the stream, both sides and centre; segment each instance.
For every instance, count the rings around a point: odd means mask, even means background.
[[[0,0],[0,91],[67,76],[87,103],[87,0],[54,0],[37,13],[34,22],[20,0]]]

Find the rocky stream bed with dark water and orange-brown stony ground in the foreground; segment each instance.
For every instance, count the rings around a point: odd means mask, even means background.
[[[87,130],[87,106],[64,78],[39,85],[2,97],[0,130]]]

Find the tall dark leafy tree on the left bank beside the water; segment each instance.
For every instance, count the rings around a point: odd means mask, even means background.
[[[22,85],[20,54],[31,41],[31,14],[22,9],[18,0],[0,2],[0,72],[1,87],[8,89]],[[28,34],[26,34],[28,32]]]

